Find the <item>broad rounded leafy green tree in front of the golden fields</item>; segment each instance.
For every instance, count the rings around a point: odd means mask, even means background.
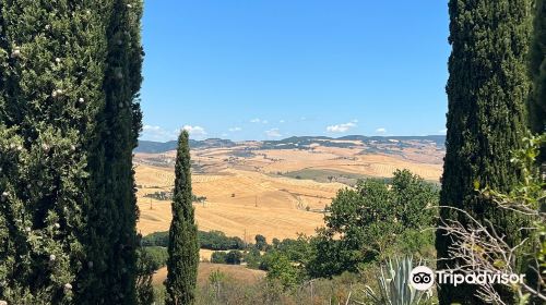
[[[360,181],[356,190],[342,190],[329,208],[327,227],[311,239],[314,254],[307,270],[311,277],[358,271],[388,253],[430,247],[434,236],[405,245],[407,234],[434,224],[438,192],[407,170],[394,172],[392,185],[380,180]]]

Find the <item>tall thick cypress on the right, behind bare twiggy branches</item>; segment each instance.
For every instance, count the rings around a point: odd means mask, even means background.
[[[527,52],[532,27],[531,0],[451,0],[448,134],[440,203],[488,219],[511,245],[522,236],[523,221],[475,195],[474,183],[507,192],[519,174],[511,150],[525,135],[525,102],[530,91]],[[442,208],[440,218],[467,223],[464,216]],[[438,258],[448,258],[451,237],[437,233]],[[454,261],[439,260],[438,268]],[[508,303],[511,294],[499,290]],[[475,288],[444,285],[441,304],[479,303]]]

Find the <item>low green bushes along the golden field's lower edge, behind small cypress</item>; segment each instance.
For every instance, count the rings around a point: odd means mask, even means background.
[[[168,246],[169,232],[154,232],[142,239],[143,246]],[[200,248],[213,251],[245,249],[245,242],[237,236],[226,236],[221,231],[198,231]]]

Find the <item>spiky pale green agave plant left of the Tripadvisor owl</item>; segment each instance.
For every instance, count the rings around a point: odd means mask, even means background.
[[[431,291],[418,291],[410,284],[412,270],[413,261],[411,257],[389,259],[387,266],[381,268],[381,274],[378,276],[379,293],[366,285],[366,295],[372,304],[381,305],[417,305],[422,300],[430,298]]]

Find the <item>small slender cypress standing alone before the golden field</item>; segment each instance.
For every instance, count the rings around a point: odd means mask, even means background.
[[[198,228],[191,199],[189,135],[182,131],[178,137],[175,167],[173,221],[169,230],[167,260],[167,304],[194,304],[199,265]]]

